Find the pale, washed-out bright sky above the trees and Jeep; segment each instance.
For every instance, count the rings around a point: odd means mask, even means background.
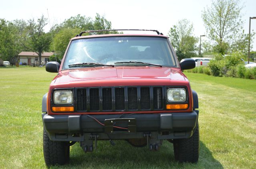
[[[157,29],[167,35],[178,20],[188,19],[194,24],[194,35],[206,34],[202,10],[211,0],[1,0],[0,18],[6,20],[37,19],[47,8],[51,23],[60,23],[77,14],[95,17],[105,15],[115,29]],[[256,16],[256,0],[244,0],[244,30],[249,32],[249,17]],[[47,28],[48,27],[48,28]],[[49,26],[46,26],[47,31]],[[256,30],[256,19],[251,20],[251,30]],[[203,37],[206,39],[207,37]],[[204,40],[202,38],[202,40]],[[253,50],[256,50],[256,37]]]

